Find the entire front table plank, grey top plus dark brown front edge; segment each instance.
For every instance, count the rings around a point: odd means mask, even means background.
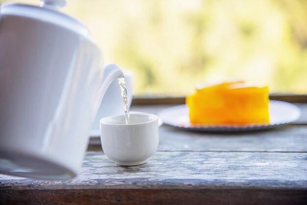
[[[70,181],[0,175],[0,204],[306,204],[306,153],[157,152],[122,167],[87,153]]]

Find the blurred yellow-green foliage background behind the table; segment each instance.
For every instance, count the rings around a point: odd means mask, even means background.
[[[39,0],[1,3],[39,4]],[[134,95],[185,96],[228,77],[307,93],[307,0],[67,0]]]

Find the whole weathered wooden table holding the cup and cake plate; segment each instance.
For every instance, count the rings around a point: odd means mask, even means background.
[[[76,179],[0,175],[0,204],[306,205],[307,104],[300,106],[296,124],[263,132],[195,133],[163,125],[157,152],[139,166],[115,165],[100,145],[90,145]]]

